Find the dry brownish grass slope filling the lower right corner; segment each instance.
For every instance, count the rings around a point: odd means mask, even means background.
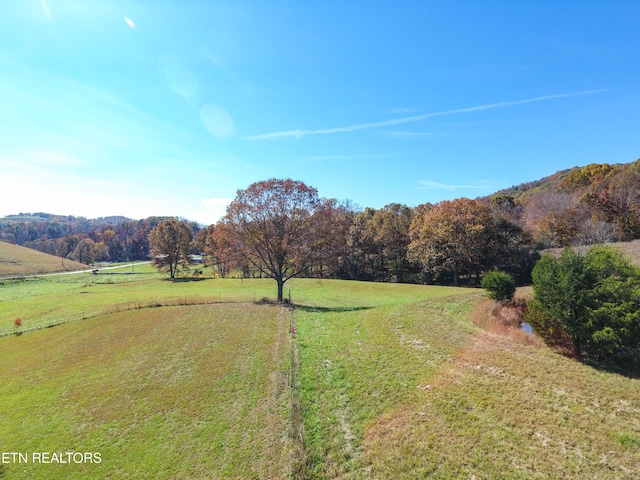
[[[365,432],[370,478],[640,478],[637,380],[483,331]]]

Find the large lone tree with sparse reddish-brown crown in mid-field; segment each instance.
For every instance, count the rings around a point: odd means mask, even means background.
[[[254,267],[278,284],[282,302],[284,283],[318,261],[329,232],[314,218],[318,192],[303,182],[270,179],[238,190],[225,220],[237,246]]]

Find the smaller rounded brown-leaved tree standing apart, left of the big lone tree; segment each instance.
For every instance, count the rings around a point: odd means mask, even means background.
[[[187,222],[168,218],[149,233],[152,264],[175,278],[179,270],[191,263],[193,232]]]

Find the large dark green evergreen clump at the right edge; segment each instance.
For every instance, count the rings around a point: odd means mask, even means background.
[[[611,247],[582,256],[545,255],[533,269],[533,304],[562,325],[578,356],[637,366],[640,359],[640,270]]]

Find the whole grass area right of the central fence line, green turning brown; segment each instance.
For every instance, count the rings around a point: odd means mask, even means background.
[[[640,478],[638,379],[479,330],[478,294],[436,292],[296,313],[299,478]]]

